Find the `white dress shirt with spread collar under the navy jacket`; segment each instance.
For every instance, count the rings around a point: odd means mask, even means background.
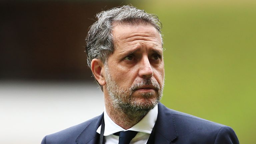
[[[130,144],[146,144],[148,138],[152,132],[152,129],[156,123],[158,114],[158,107],[155,106],[150,110],[137,124],[127,130],[138,131],[138,134],[131,140]],[[108,116],[106,108],[104,108],[104,121],[105,121],[105,144],[118,144],[119,136],[113,135],[119,131],[127,131],[114,123]],[[100,134],[101,125],[97,129],[97,133]]]

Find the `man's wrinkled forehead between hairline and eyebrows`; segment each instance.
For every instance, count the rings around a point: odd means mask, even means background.
[[[159,32],[150,24],[116,24],[112,30],[114,51],[134,47],[147,47],[162,50]]]

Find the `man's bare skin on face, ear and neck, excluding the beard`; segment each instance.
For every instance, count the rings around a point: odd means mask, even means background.
[[[128,89],[142,79],[151,79],[161,87],[164,84],[164,61],[160,35],[150,24],[117,24],[112,30],[114,52],[107,59],[109,73],[123,89]],[[91,69],[100,85],[103,86],[106,112],[119,126],[128,129],[138,123],[143,116],[127,116],[111,105],[106,81],[104,64],[93,59]],[[134,100],[146,103],[143,93],[153,92],[150,99],[155,100],[157,91],[150,85],[142,86],[132,93]]]

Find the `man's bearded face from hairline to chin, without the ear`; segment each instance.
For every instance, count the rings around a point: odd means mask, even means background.
[[[149,24],[119,24],[112,34],[115,50],[104,68],[107,93],[114,107],[152,109],[161,99],[164,85],[158,31]]]

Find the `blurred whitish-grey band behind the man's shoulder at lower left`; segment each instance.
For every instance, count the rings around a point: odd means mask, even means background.
[[[0,143],[37,144],[103,109],[103,94],[95,83],[1,81]]]

